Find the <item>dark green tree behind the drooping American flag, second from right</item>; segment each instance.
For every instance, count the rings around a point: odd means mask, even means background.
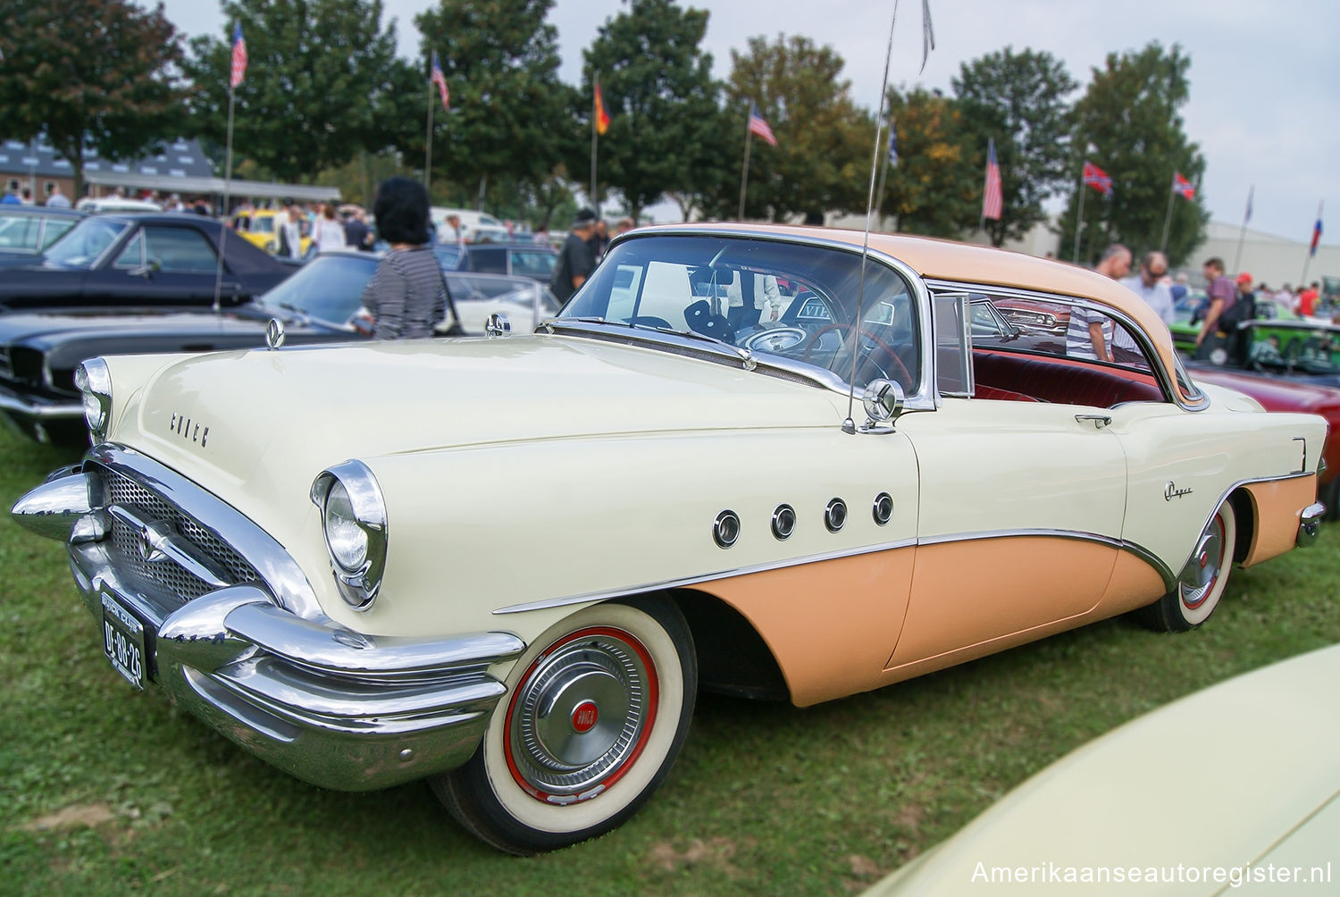
[[[1067,186],[1069,103],[1077,84],[1048,52],[1010,47],[963,63],[951,82],[972,158],[986,168],[986,142],[996,141],[1004,208],[986,221],[992,245],[1020,239],[1047,220],[1043,202]]]

